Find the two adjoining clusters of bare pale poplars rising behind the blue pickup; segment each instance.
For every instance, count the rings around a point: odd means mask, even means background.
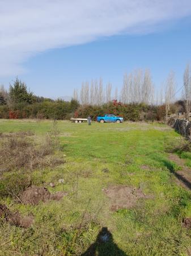
[[[103,79],[92,80],[91,83],[82,82],[80,92],[74,89],[73,98],[82,105],[102,105],[111,100],[118,100],[124,104],[145,103],[155,104],[154,84],[149,69],[137,69],[129,74],[125,73],[121,92],[118,88],[112,90],[109,82],[103,86]]]

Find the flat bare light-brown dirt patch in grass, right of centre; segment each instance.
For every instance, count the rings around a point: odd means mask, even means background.
[[[118,209],[129,209],[137,204],[138,199],[146,199],[146,196],[141,189],[127,187],[125,185],[116,185],[110,188],[103,189],[109,197],[111,207],[115,211]]]

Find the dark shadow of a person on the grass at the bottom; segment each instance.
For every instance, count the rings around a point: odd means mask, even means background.
[[[127,256],[116,243],[113,242],[112,233],[108,228],[102,228],[96,241],[80,256]]]

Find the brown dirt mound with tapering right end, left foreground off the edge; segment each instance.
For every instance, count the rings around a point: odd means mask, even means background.
[[[40,201],[45,203],[49,200],[61,200],[62,197],[66,195],[67,192],[60,191],[54,194],[50,194],[47,188],[32,185],[22,193],[20,200],[22,200],[23,204],[37,205],[40,203]]]

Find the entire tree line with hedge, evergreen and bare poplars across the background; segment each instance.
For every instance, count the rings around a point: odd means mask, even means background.
[[[180,88],[179,88],[180,90]],[[191,67],[186,65],[182,97],[176,100],[175,73],[169,72],[160,90],[155,90],[149,69],[125,73],[120,92],[103,79],[82,82],[80,90],[74,89],[73,99],[63,101],[39,97],[28,90],[18,78],[10,84],[9,91],[0,86],[0,118],[56,118],[92,117],[101,113],[120,114],[126,119],[161,119],[178,110],[189,114],[191,110]],[[133,110],[134,109],[134,110]],[[130,110],[134,117],[130,115]],[[89,112],[89,113],[88,113]],[[139,114],[138,114],[139,112]],[[128,114],[127,114],[128,113]]]

